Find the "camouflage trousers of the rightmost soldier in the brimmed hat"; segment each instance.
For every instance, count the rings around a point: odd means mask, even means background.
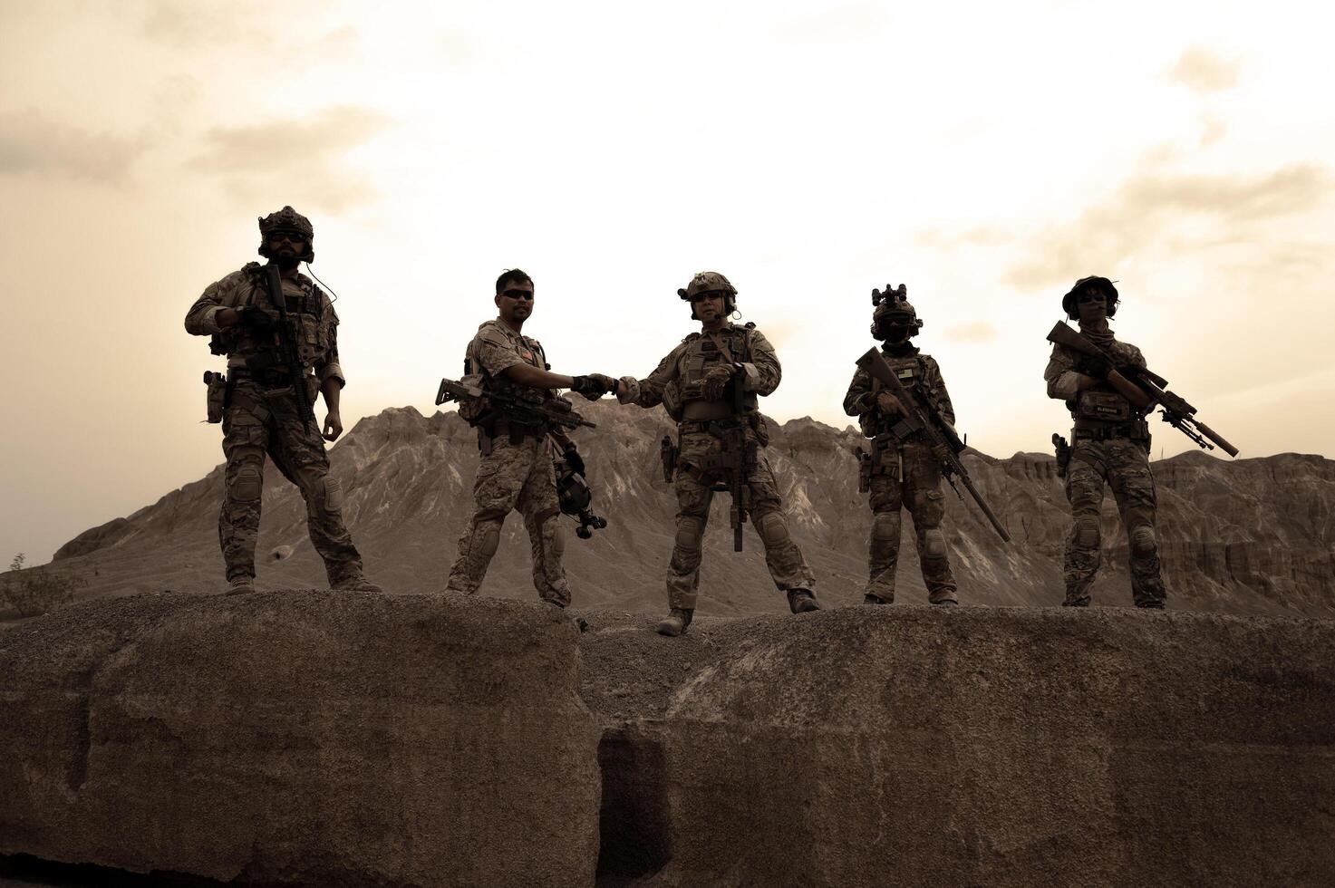
[[[1075,523],[1067,537],[1064,578],[1068,605],[1089,604],[1089,584],[1099,572],[1099,509],[1107,481],[1121,513],[1131,549],[1131,593],[1139,606],[1163,606],[1159,542],[1155,538],[1155,479],[1144,445],[1129,438],[1076,441],[1067,469],[1067,499]]]

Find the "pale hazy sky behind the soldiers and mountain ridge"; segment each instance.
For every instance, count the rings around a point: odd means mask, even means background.
[[[0,0],[0,557],[222,461],[182,319],[294,204],[350,429],[537,280],[559,373],[643,375],[725,272],[762,407],[844,426],[906,283],[969,443],[1047,450],[1083,275],[1243,457],[1335,455],[1335,72],[1311,3]],[[323,410],[320,411],[323,415]],[[1155,423],[1155,457],[1191,445]]]

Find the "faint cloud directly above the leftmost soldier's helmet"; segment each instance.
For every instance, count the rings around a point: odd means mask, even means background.
[[[296,120],[215,127],[207,150],[190,167],[218,176],[246,203],[272,202],[282,194],[338,212],[375,199],[367,174],[346,156],[387,126],[388,118],[378,111],[336,105]]]

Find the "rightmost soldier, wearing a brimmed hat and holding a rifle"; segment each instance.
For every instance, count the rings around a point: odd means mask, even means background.
[[[1075,525],[1067,538],[1063,604],[1089,605],[1089,584],[1099,570],[1099,507],[1107,482],[1117,501],[1131,549],[1131,592],[1137,608],[1163,608],[1155,538],[1155,481],[1149,471],[1149,397],[1117,367],[1144,367],[1140,350],[1119,342],[1108,327],[1117,310],[1117,288],[1107,278],[1081,278],[1063,296],[1061,307],[1080,322],[1080,334],[1108,358],[1091,358],[1053,345],[1043,374],[1048,397],[1065,401],[1075,419],[1067,499]]]

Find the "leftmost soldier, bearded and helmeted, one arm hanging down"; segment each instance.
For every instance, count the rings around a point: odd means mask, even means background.
[[[339,390],[344,379],[338,361],[334,306],[310,278],[296,271],[302,260],[315,259],[315,230],[291,207],[260,219],[259,230],[259,254],[276,263],[282,274],[288,327],[308,401],[314,402],[319,391],[327,413],[322,435],[315,421],[298,409],[292,369],[283,363],[279,349],[278,307],[266,287],[264,268],[251,262],[210,284],[187,312],[186,330],[212,337],[212,353],[227,355],[222,411],[227,481],[218,538],[228,592],[254,590],[266,454],[306,499],[311,543],[324,560],[330,586],[379,592],[362,573],[362,557],[343,525],[343,490],[330,474],[324,453],[324,441],[335,441],[343,433]]]

